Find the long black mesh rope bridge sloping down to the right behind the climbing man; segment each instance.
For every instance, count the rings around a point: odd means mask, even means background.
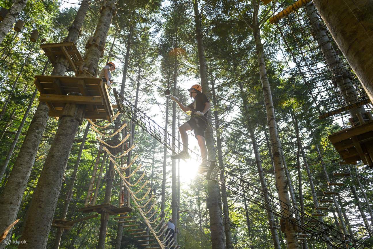
[[[166,132],[166,130],[154,122],[154,120],[150,119],[150,117],[148,117],[143,111],[139,110],[127,99],[120,96],[116,92],[116,89],[114,89],[114,95],[120,113],[128,119],[132,119],[145,132],[169,148],[173,153],[179,152],[176,148],[180,148],[182,143],[177,138],[173,138],[172,135]],[[190,149],[189,152],[197,161],[201,160],[201,157],[197,153]],[[318,219],[313,218],[307,213],[301,212],[299,209],[295,209],[294,207],[281,202],[277,197],[269,193],[264,193],[261,188],[256,187],[245,179],[242,179],[225,169],[211,166],[206,178],[224,185],[228,190],[242,198],[245,198],[248,202],[269,210],[273,214],[279,216],[282,220],[281,227],[286,224],[293,225],[299,234],[307,233],[307,236],[316,237],[333,248],[364,248],[364,245],[362,245],[360,241],[352,239],[348,234],[341,233],[334,226],[320,222]],[[268,198],[264,197],[265,194],[267,194]],[[215,203],[217,202],[217,200],[211,201]],[[359,239],[364,240],[369,237],[369,234],[361,232],[355,234],[355,238],[358,236],[360,236]]]

